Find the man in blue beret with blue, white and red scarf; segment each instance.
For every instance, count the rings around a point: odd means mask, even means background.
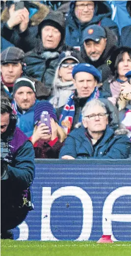
[[[60,116],[59,124],[66,133],[70,133],[78,122],[81,122],[81,109],[86,102],[99,97],[107,97],[99,92],[97,84],[101,82],[101,73],[90,64],[78,64],[73,69],[73,82],[76,86],[75,92],[69,97],[64,108],[57,110]]]

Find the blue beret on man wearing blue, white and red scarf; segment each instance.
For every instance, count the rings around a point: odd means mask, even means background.
[[[75,74],[79,73],[79,72],[90,73],[95,77],[95,79],[98,82],[102,81],[102,75],[101,75],[100,71],[98,69],[96,69],[93,65],[90,65],[88,63],[80,63],[76,67],[74,67],[73,72],[72,72],[73,78],[74,78]]]

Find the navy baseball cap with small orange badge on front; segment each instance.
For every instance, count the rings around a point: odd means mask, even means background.
[[[106,37],[105,29],[99,25],[91,25],[84,29],[82,42],[85,40],[93,40],[98,42],[103,37]]]

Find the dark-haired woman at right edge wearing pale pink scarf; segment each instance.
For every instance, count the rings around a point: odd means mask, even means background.
[[[120,120],[124,118],[126,109],[131,108],[130,94],[131,84],[126,73],[131,71],[131,48],[121,47],[112,53],[110,58],[112,77],[105,81],[103,90],[110,87],[111,97],[109,101],[118,107],[120,111]],[[125,94],[126,90],[126,94]]]

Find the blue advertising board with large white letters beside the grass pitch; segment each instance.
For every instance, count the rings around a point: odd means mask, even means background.
[[[36,162],[32,193],[34,210],[13,230],[16,240],[96,241],[112,234],[131,241],[130,162]]]

